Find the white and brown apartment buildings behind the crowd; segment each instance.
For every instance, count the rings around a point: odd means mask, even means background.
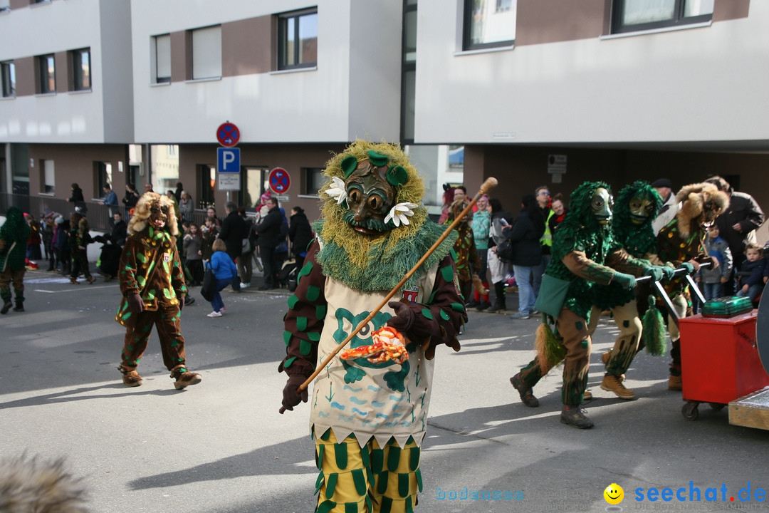
[[[330,152],[369,138],[408,145],[431,204],[491,175],[515,211],[538,185],[718,174],[769,208],[767,26],[757,0],[0,0],[0,192],[179,181],[198,207],[253,205],[281,167],[317,212]]]

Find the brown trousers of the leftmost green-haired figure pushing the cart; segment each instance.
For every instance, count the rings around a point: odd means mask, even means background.
[[[582,396],[588,386],[591,350],[588,324],[573,311],[562,308],[555,321],[555,333],[558,341],[566,348],[561,402],[567,406],[577,406],[582,403]],[[537,358],[534,358],[529,365],[521,369],[521,381],[533,387],[548,371],[549,368],[541,368]]]

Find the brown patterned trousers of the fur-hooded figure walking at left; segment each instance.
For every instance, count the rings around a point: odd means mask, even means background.
[[[163,363],[169,371],[185,366],[185,338],[181,336],[179,321],[181,311],[178,305],[158,305],[157,311],[142,311],[136,321],[125,330],[125,341],[121,365],[128,371],[135,371],[144,355],[152,332],[152,325],[158,328]]]

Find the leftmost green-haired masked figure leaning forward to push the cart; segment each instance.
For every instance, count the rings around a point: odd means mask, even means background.
[[[564,361],[561,422],[576,428],[593,427],[580,407],[588,383],[592,289],[613,283],[630,291],[635,276],[650,270],[649,262],[631,257],[614,240],[612,207],[611,192],[603,182],[584,182],[571,194],[570,210],[554,233],[552,258],[535,305],[554,320],[554,331],[547,322],[538,328],[538,357],[510,378],[524,405],[536,407],[539,401],[532,388]]]

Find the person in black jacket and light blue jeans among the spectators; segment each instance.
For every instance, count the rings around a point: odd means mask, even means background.
[[[534,311],[534,280],[532,273],[541,265],[542,245],[540,238],[544,233],[544,218],[534,195],[527,194],[521,199],[521,213],[515,218],[512,227],[506,231],[511,240],[515,282],[518,283],[518,312],[511,319],[528,319]]]

